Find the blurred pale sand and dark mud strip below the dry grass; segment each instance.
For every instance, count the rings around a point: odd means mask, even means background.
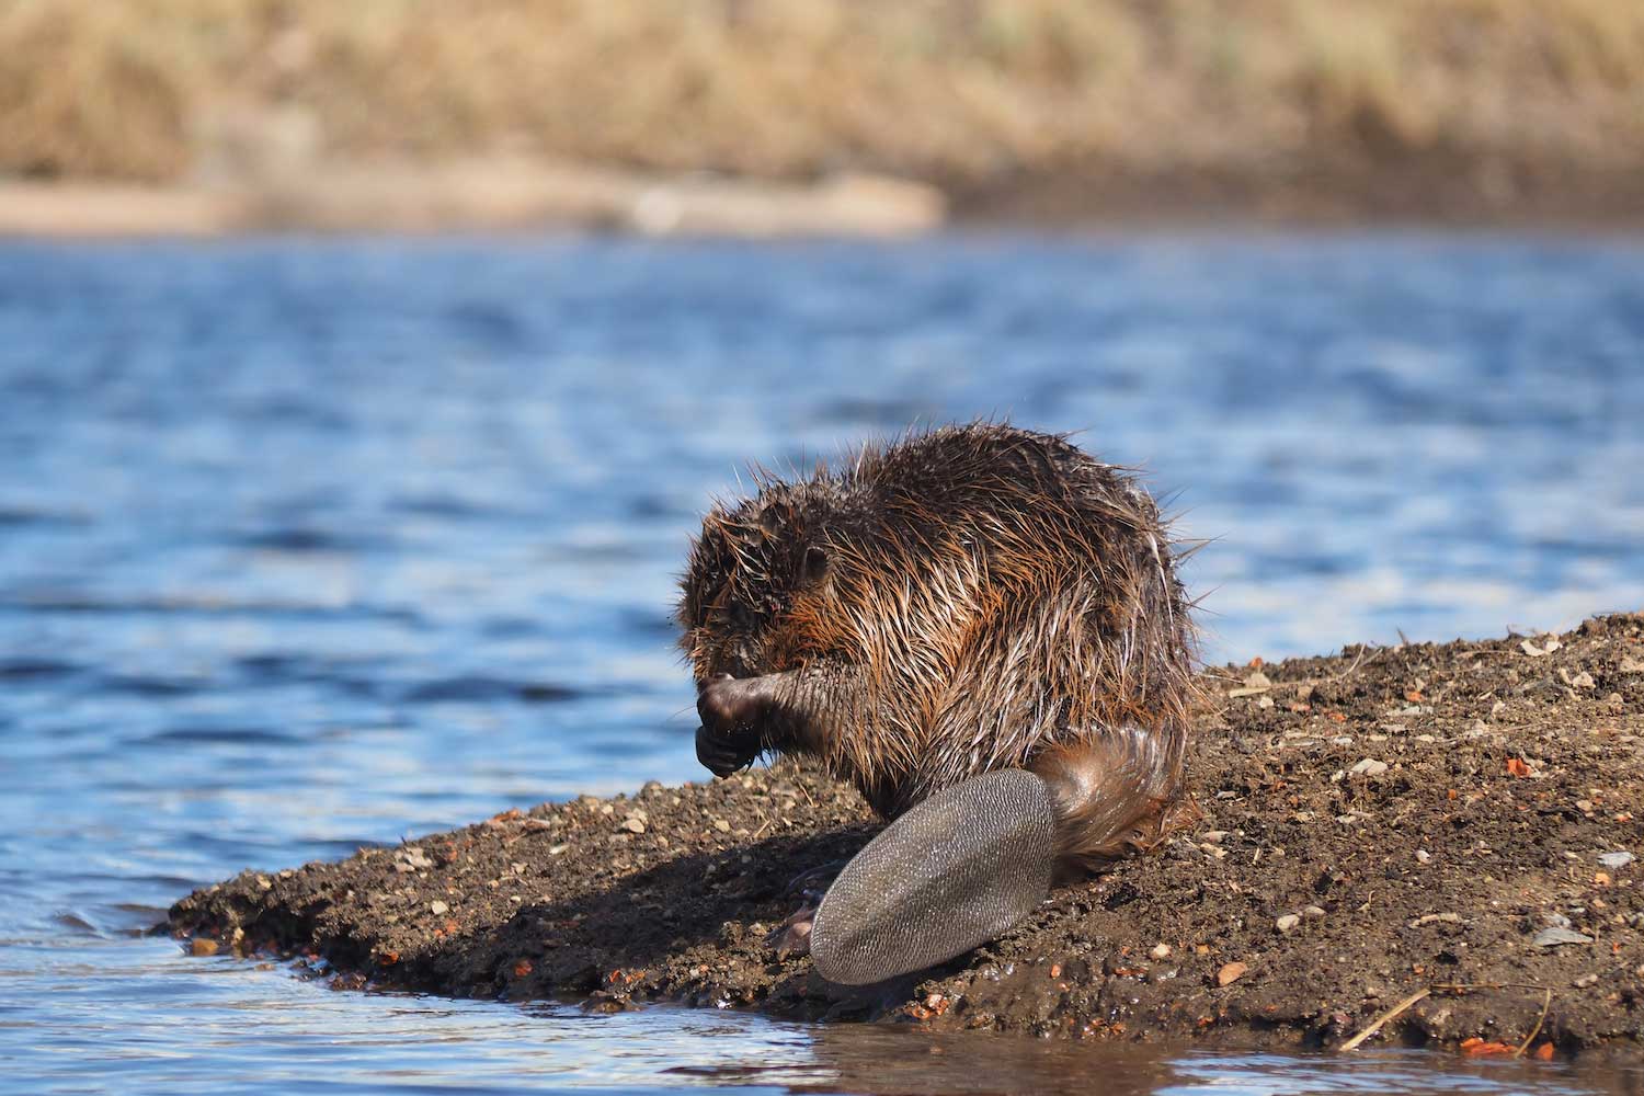
[[[1644,176],[1575,176],[1480,200],[1458,171],[1346,168],[1300,179],[1024,177],[957,192],[865,173],[815,182],[467,158],[214,182],[0,179],[0,238],[574,230],[646,237],[916,237],[944,227],[1644,228]]]

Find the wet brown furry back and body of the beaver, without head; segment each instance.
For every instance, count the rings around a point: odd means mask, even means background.
[[[1121,728],[1151,739],[1159,795],[1175,794],[1189,605],[1128,472],[1059,435],[977,424],[866,449],[799,495],[830,580],[771,649],[866,669],[868,700],[825,756],[884,813]]]

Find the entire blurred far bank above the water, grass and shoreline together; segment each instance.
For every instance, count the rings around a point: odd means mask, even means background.
[[[23,0],[0,233],[1644,225],[1624,0]]]

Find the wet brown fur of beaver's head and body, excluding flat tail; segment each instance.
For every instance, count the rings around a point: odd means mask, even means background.
[[[760,748],[822,758],[888,818],[985,771],[1039,772],[1075,866],[1184,810],[1175,562],[1129,472],[1062,435],[944,427],[715,506],[682,646],[702,688],[779,675]]]

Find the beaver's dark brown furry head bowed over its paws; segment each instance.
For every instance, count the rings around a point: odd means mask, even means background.
[[[832,493],[825,481],[768,481],[702,519],[679,601],[699,685],[791,670],[825,649]]]

